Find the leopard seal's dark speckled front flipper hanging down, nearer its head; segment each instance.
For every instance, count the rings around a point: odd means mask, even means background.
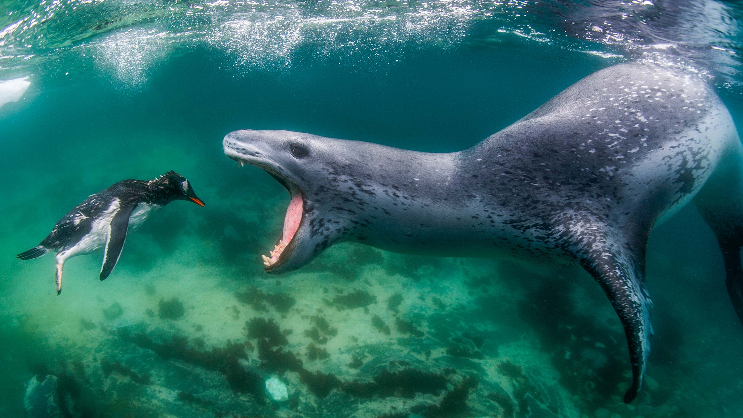
[[[583,268],[601,285],[619,315],[629,345],[632,362],[632,387],[624,395],[624,402],[632,402],[643,384],[643,375],[650,354],[650,307],[644,281],[644,251],[634,257],[626,254],[630,245],[594,244],[587,257],[581,260]],[[644,248],[644,245],[642,246]]]

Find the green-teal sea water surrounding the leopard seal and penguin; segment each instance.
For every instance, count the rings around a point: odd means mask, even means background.
[[[743,121],[743,8],[722,1],[0,0],[0,417],[53,375],[65,417],[740,417],[743,327],[694,208],[652,234],[643,391],[581,269],[343,243],[263,271],[289,198],[235,129],[467,147],[588,74],[655,60]],[[0,103],[3,103],[0,100]],[[175,170],[173,202],[65,264],[36,245],[91,193]],[[278,378],[276,402],[265,381]]]

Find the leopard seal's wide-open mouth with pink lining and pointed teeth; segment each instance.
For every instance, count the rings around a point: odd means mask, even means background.
[[[289,207],[284,216],[284,228],[282,229],[281,237],[276,241],[276,245],[273,245],[273,249],[268,253],[268,255],[262,254],[261,256],[263,258],[265,271],[271,271],[279,266],[279,264],[283,263],[291,254],[294,245],[294,236],[296,235],[296,231],[299,231],[299,226],[302,225],[302,219],[305,214],[304,194],[302,193],[302,190],[299,189],[299,186],[294,184],[293,181],[289,180],[286,176],[282,175],[282,173],[274,170],[272,167],[256,161],[247,161],[237,157],[230,158],[237,161],[240,164],[240,167],[244,164],[250,164],[261,168],[271,177],[276,179],[276,181],[279,181],[279,184],[284,186],[289,192],[289,196],[291,196]]]

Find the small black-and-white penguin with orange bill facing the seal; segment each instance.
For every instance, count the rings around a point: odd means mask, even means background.
[[[116,266],[126,231],[132,231],[147,218],[150,211],[174,200],[190,200],[204,206],[184,176],[170,170],[155,180],[123,180],[88,196],[85,202],[70,210],[39,245],[16,255],[31,260],[56,251],[56,294],[62,293],[62,266],[70,257],[91,254],[104,245],[100,280],[106,279]]]

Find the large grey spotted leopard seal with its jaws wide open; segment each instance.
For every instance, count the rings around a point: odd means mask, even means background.
[[[223,147],[291,195],[282,237],[263,256],[269,273],[342,241],[583,267],[625,330],[633,375],[625,402],[650,353],[648,237],[692,200],[716,234],[743,321],[743,147],[695,74],[640,62],[604,68],[460,152],[280,130],[230,132]]]

